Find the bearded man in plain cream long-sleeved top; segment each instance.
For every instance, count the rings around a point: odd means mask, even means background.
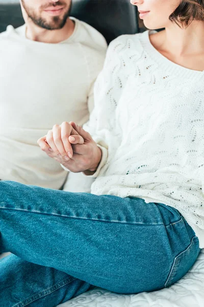
[[[21,0],[25,24],[0,34],[0,179],[60,189],[67,172],[37,140],[56,122],[80,125],[107,43],[69,17],[71,0]]]

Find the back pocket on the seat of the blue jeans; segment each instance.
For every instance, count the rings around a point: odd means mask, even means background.
[[[165,283],[165,288],[180,280],[194,265],[199,254],[199,240],[193,236],[190,245],[174,258],[173,265]]]

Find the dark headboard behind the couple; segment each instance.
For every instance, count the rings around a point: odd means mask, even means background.
[[[121,34],[139,32],[137,8],[130,0],[72,0],[70,15],[93,26],[108,43]],[[0,0],[0,32],[23,23],[19,1]]]

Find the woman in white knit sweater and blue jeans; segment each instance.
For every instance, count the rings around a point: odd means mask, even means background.
[[[0,246],[15,254],[0,262],[3,305],[56,306],[95,286],[159,290],[204,248],[204,2],[132,4],[166,30],[114,40],[89,124],[38,141],[96,178],[92,194],[1,182]]]

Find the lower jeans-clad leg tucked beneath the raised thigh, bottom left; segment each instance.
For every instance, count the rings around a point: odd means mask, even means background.
[[[93,289],[86,281],[13,254],[0,260],[0,280],[1,307],[54,307]]]

